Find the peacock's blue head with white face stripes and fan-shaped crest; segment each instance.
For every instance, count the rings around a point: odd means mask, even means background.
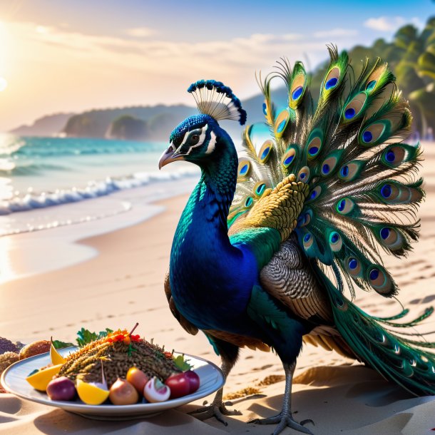
[[[180,123],[170,134],[170,145],[160,157],[159,169],[177,160],[187,160],[202,166],[213,158],[227,133],[218,121],[232,119],[243,125],[246,112],[231,89],[220,81],[200,80],[188,88],[200,111]]]

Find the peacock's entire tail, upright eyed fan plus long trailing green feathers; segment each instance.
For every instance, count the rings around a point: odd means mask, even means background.
[[[295,176],[308,186],[294,232],[332,304],[335,325],[359,359],[414,394],[435,394],[435,344],[406,332],[411,322],[372,317],[352,300],[355,289],[393,297],[398,288],[382,261],[384,252],[406,256],[417,240],[416,215],[424,198],[418,176],[421,150],[409,135],[409,106],[380,59],[366,61],[358,78],[347,53],[329,47],[331,61],[317,104],[302,63],[286,59],[260,75],[265,124],[247,126],[228,226],[249,220],[270,189]],[[275,108],[271,81],[281,78],[288,104]],[[237,226],[235,225],[235,226]],[[344,296],[348,290],[351,297]]]

